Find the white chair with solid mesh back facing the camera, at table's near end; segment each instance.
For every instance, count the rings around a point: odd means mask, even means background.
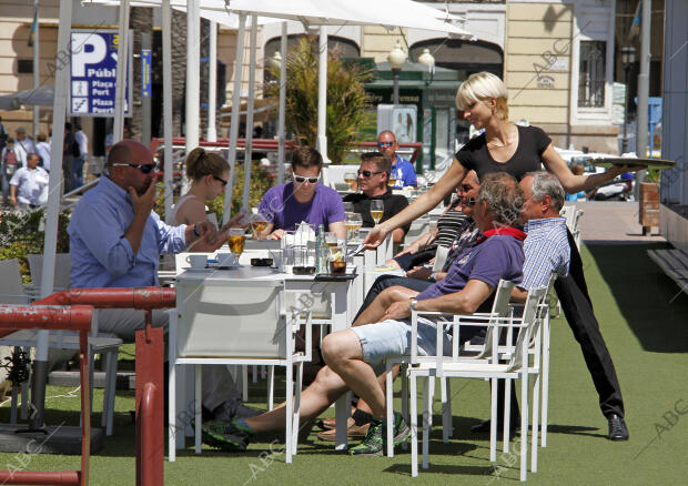
[[[311,360],[311,313],[285,313],[284,281],[179,281],[170,317],[169,458],[175,459],[175,368],[195,365],[195,452],[201,454],[201,365],[273,365],[286,368],[286,463],[296,454],[303,363]],[[305,353],[295,336],[305,324]],[[296,365],[296,379],[293,366]],[[295,394],[294,394],[294,382]]]

